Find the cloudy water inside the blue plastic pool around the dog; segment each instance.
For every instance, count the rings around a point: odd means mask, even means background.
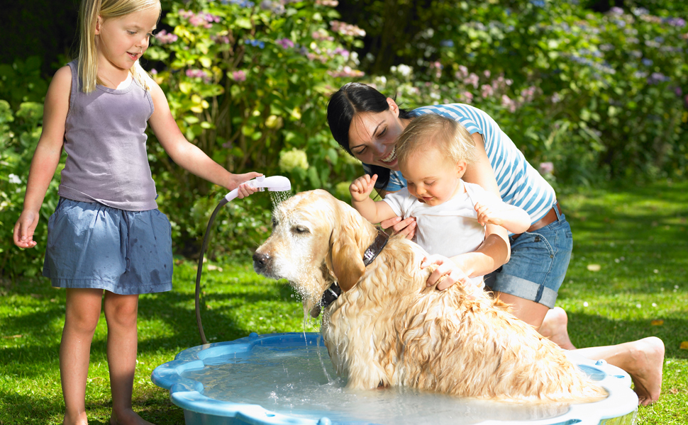
[[[246,353],[206,359],[201,370],[184,378],[204,385],[203,395],[227,402],[260,404],[290,416],[381,425],[423,423],[477,424],[481,421],[526,421],[565,414],[568,404],[509,404],[460,399],[392,388],[353,392],[336,376],[323,346],[255,346]]]

